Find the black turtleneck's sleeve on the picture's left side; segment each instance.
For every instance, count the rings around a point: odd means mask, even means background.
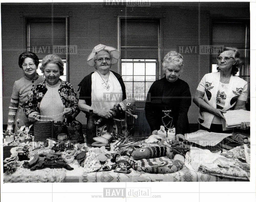
[[[147,93],[147,100],[150,98],[150,102],[146,101],[145,103],[145,115],[146,115],[146,120],[151,128],[151,131],[154,130],[158,130],[157,126],[156,126],[156,121],[154,119],[154,107],[152,106],[152,102],[151,99],[152,97],[154,97],[154,92],[155,92],[155,88],[154,88],[155,84],[153,83]]]

